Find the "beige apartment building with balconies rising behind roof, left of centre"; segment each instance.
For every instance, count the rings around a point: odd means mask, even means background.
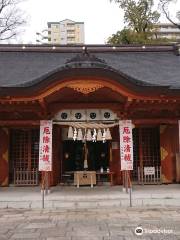
[[[48,43],[84,44],[84,22],[70,19],[48,22]]]

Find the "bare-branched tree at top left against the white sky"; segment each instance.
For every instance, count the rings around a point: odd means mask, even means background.
[[[26,21],[18,8],[21,0],[0,0],[0,40],[14,38]]]

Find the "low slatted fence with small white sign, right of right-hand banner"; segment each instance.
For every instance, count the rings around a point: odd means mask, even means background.
[[[146,167],[148,168],[148,167]],[[145,172],[145,168],[138,167],[138,183],[139,184],[161,184],[161,166],[149,166],[154,168],[153,172]]]

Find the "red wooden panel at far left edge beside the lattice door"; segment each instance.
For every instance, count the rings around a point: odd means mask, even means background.
[[[0,186],[8,186],[9,183],[9,131],[0,128]]]

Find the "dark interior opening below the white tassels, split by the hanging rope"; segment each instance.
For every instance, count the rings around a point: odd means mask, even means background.
[[[69,140],[63,141],[62,174],[84,170],[85,151],[87,151],[87,170],[100,171],[103,168],[103,171],[107,171],[109,168],[109,142],[83,143]]]

